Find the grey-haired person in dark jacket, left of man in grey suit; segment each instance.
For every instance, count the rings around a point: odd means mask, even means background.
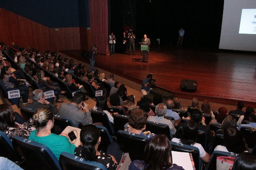
[[[45,99],[44,91],[42,89],[36,89],[33,91],[33,102],[26,104],[26,108],[32,108],[37,110],[38,108],[49,108],[53,114],[58,114],[58,109],[55,105],[48,102]]]

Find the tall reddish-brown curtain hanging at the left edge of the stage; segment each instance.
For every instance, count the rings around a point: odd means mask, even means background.
[[[91,45],[99,47],[100,54],[109,55],[108,0],[89,0]]]

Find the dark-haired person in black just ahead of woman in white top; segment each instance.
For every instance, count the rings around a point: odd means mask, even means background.
[[[207,137],[207,143],[209,143],[212,140],[212,134],[210,132],[209,126],[200,125],[200,123],[202,122],[202,118],[203,118],[203,114],[201,111],[195,110],[191,113],[191,120],[194,120],[197,123],[198,130],[202,130],[205,132],[205,135]]]

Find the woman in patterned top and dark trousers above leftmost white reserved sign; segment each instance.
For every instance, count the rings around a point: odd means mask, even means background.
[[[12,74],[10,66],[3,66],[1,69],[0,79],[3,81],[3,84],[7,89],[9,88],[19,88],[20,92],[25,92],[22,95],[23,105],[26,105],[29,101],[29,88],[25,86],[25,82],[16,79],[14,74]]]

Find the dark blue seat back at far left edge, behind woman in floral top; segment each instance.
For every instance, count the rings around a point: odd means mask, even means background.
[[[0,156],[6,157],[13,162],[19,161],[15,150],[13,150],[11,139],[2,131],[0,131]]]

